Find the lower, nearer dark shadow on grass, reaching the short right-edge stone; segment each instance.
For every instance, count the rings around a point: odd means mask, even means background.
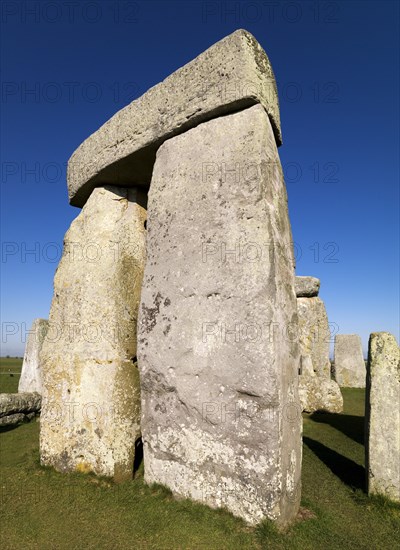
[[[365,469],[362,466],[315,439],[303,437],[303,442],[343,483],[352,489],[366,490]]]

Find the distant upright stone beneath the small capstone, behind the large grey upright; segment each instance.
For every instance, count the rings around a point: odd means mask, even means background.
[[[301,355],[311,356],[314,371],[330,379],[330,331],[324,302],[318,298],[297,298]]]

